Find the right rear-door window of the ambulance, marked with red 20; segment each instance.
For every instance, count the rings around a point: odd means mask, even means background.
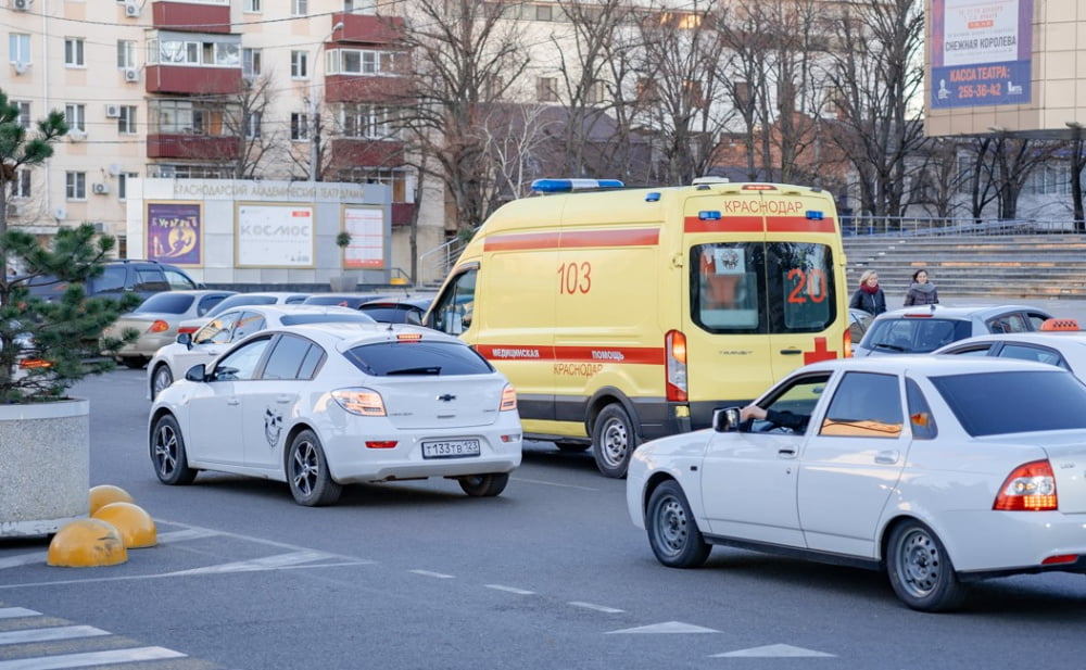
[[[833,253],[825,244],[767,244],[769,331],[818,332],[837,316]]]

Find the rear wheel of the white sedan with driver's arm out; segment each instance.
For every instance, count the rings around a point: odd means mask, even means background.
[[[886,572],[894,593],[912,609],[948,611],[965,598],[946,547],[920,521],[905,521],[891,532]]]

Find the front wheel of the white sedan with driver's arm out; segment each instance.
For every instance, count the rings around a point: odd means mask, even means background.
[[[697,528],[682,486],[674,480],[661,483],[649,496],[645,530],[656,559],[669,568],[696,568],[712,551]]]

